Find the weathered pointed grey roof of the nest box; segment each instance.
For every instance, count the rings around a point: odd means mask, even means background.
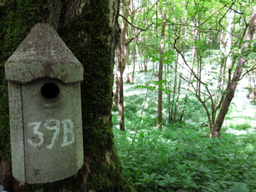
[[[6,61],[5,76],[19,84],[41,78],[71,84],[84,79],[84,68],[53,26],[38,23]]]

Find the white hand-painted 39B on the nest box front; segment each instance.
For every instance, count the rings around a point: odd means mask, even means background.
[[[27,139],[27,142],[30,143],[33,147],[41,146],[44,143],[44,134],[40,131],[38,131],[41,121],[39,122],[30,122],[27,125],[32,126],[33,125],[33,134],[38,135],[38,138],[40,139],[39,143],[32,143],[32,140],[29,138]],[[65,119],[65,120],[58,120],[58,119],[47,119],[44,123],[44,127],[47,130],[55,131],[53,134],[53,137],[51,139],[51,143],[46,146],[46,148],[52,148],[55,144],[55,140],[57,139],[59,133],[60,133],[60,127],[63,125],[63,143],[61,143],[61,147],[65,147],[71,143],[74,142],[74,133],[73,133],[73,122],[71,119]],[[67,136],[70,135],[71,140],[67,141]]]

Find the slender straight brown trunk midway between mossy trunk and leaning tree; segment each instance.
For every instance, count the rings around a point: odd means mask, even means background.
[[[165,9],[165,8],[164,8]],[[161,83],[163,79],[163,54],[165,49],[165,31],[166,31],[166,15],[163,15],[163,24],[161,29],[161,41],[160,41],[160,62],[159,62],[159,73],[158,73],[158,80],[160,82],[159,84],[159,90],[158,90],[158,117],[157,117],[157,129],[162,129],[162,110],[163,110],[163,84]]]

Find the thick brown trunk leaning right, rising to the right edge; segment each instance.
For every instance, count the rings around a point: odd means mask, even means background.
[[[245,39],[246,41],[253,40],[253,33],[255,32],[255,23],[256,23],[256,5],[254,5],[252,19],[251,19],[250,25],[247,29],[247,36]],[[241,57],[238,61],[238,64],[236,66],[236,71],[233,74],[233,78],[230,83],[229,92],[227,93],[227,95],[224,98],[224,102],[222,103],[222,106],[218,113],[218,117],[216,119],[215,125],[212,128],[210,137],[219,137],[220,136],[221,126],[223,125],[225,115],[228,112],[228,109],[230,107],[230,102],[232,101],[232,99],[234,97],[237,83],[240,81],[240,78],[241,78],[243,64],[246,61],[246,57],[248,54],[248,53],[246,53],[247,46],[248,46],[248,42],[243,45],[242,52],[245,55],[243,57]]]

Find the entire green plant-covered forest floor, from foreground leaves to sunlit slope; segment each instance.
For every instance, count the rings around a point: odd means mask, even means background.
[[[148,65],[148,68],[151,68]],[[157,89],[137,89],[157,81],[152,70],[135,73],[135,84],[125,83],[125,131],[119,131],[119,113],[113,112],[116,148],[124,174],[137,191],[256,191],[256,107],[247,99],[242,79],[232,100],[219,139],[209,135],[207,115],[195,96],[189,100],[183,123],[168,123],[168,97],[163,95],[163,131],[158,131]],[[177,119],[183,109],[182,84]],[[143,106],[144,109],[143,109]],[[142,114],[143,112],[143,114]],[[140,120],[141,119],[141,120]]]

